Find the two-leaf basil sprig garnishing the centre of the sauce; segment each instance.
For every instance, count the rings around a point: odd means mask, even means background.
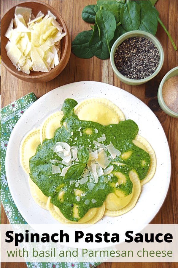
[[[64,180],[78,180],[82,176],[86,164],[89,159],[89,152],[87,147],[82,147],[78,152],[77,152],[77,158],[79,160],[79,163],[74,164],[69,167],[67,170]]]

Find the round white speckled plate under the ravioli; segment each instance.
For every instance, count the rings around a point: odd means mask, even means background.
[[[58,223],[49,211],[40,208],[31,197],[28,176],[19,161],[20,142],[28,131],[39,127],[48,115],[61,110],[66,98],[80,102],[87,97],[105,97],[120,107],[126,119],[138,124],[139,134],[151,144],[157,159],[155,175],[142,187],[136,206],[122,216],[104,216],[102,223],[148,224],[160,209],[169,188],[171,160],[167,139],[157,117],[142,101],[120,88],[101,82],[76,82],[55,88],[39,98],[20,117],[10,136],[6,153],[6,175],[14,202],[28,224]]]

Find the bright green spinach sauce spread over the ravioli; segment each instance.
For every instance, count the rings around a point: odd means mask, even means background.
[[[135,146],[132,140],[138,133],[138,126],[132,120],[120,121],[119,124],[101,125],[93,121],[79,120],[74,113],[74,107],[77,102],[73,99],[64,101],[62,111],[64,116],[59,127],[51,139],[45,139],[40,144],[36,153],[30,158],[30,177],[46,196],[51,196],[51,203],[57,206],[61,213],[71,221],[81,219],[90,208],[101,207],[109,193],[120,189],[126,195],[132,192],[132,182],[128,176],[130,170],[136,170],[139,179],[142,180],[150,166],[150,156],[143,149]],[[91,134],[86,134],[86,130],[90,129]],[[96,130],[97,129],[97,133]],[[105,134],[105,141],[101,143],[108,145],[110,143],[121,152],[110,161],[109,165],[114,167],[112,173],[121,172],[125,175],[126,181],[118,184],[118,178],[114,174],[101,175],[98,183],[92,181],[92,177],[88,181],[76,187],[75,178],[73,182],[65,181],[64,176],[60,173],[52,174],[51,160],[61,161],[62,159],[51,149],[57,142],[66,142],[72,146],[80,148],[85,145],[88,149],[96,150],[93,141]],[[131,155],[124,159],[122,154],[131,151]],[[106,150],[106,154],[109,152]],[[115,162],[124,163],[117,165]],[[143,165],[144,162],[144,165]],[[56,166],[61,164],[55,163]],[[62,165],[61,167],[65,167]],[[80,180],[79,180],[80,181]],[[92,189],[89,187],[92,184]],[[76,200],[75,190],[79,189],[84,193],[80,196],[80,200]],[[59,193],[64,191],[63,200],[59,198]],[[86,202],[87,200],[87,202]],[[92,202],[91,200],[95,200]],[[79,218],[74,217],[73,207],[77,205]]]

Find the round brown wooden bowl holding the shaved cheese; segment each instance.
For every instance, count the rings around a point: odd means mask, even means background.
[[[63,28],[63,32],[66,33],[66,36],[64,36],[61,40],[61,60],[59,61],[59,64],[54,68],[52,68],[49,72],[30,71],[30,74],[25,74],[22,71],[18,71],[17,68],[10,61],[9,57],[7,56],[5,46],[8,42],[8,38],[6,38],[4,35],[9,27],[11,19],[15,17],[14,13],[16,6],[31,8],[34,16],[36,16],[39,11],[41,11],[43,14],[46,15],[47,11],[49,10],[53,15],[55,15],[55,17],[57,18],[56,21],[58,21],[58,23]],[[66,27],[63,18],[53,7],[50,7],[49,5],[39,1],[24,1],[14,5],[1,18],[1,63],[15,77],[27,82],[50,81],[54,79],[56,76],[58,76],[58,74],[60,74],[66,67],[70,58],[70,54],[71,54],[71,40],[69,36],[69,31]]]

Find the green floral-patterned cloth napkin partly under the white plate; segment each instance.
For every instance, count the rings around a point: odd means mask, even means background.
[[[22,215],[18,211],[14,200],[9,191],[6,171],[5,171],[5,155],[7,144],[11,132],[17,123],[18,119],[28,109],[28,107],[36,101],[35,94],[29,93],[26,96],[12,102],[1,109],[1,202],[7,214],[9,222],[12,224],[26,224]],[[93,268],[99,263],[27,263],[28,268]]]

